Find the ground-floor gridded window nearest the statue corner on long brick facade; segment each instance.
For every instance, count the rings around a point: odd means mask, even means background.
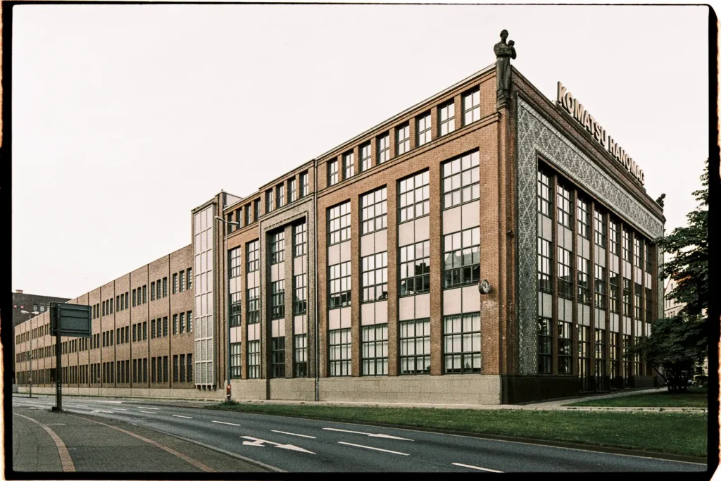
[[[443,358],[446,374],[481,371],[481,314],[443,317]]]

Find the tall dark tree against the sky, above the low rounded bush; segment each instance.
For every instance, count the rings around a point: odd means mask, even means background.
[[[677,227],[659,246],[673,255],[663,266],[661,277],[672,278],[678,285],[668,299],[685,304],[681,314],[699,316],[708,307],[709,298],[709,163],[701,176],[703,188],[694,196],[699,202],[695,211],[686,214],[687,226]]]

